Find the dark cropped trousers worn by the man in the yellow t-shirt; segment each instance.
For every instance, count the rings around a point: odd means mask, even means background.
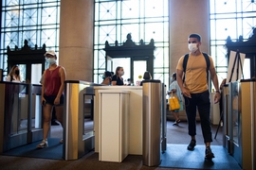
[[[201,128],[203,132],[204,142],[212,142],[211,127],[210,127],[210,93],[192,93],[192,98],[185,98],[186,114],[189,125],[189,135],[196,135],[196,109],[198,109]]]

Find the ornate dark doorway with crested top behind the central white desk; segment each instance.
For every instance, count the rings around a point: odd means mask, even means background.
[[[106,71],[115,72],[117,66],[124,68],[124,80],[131,78],[136,85],[137,81],[141,81],[138,76],[143,76],[145,71],[149,71],[154,78],[154,51],[155,45],[152,39],[149,44],[145,44],[142,40],[137,45],[132,41],[131,34],[127,35],[127,40],[119,45],[116,41],[115,45],[105,42],[103,49],[105,54]]]

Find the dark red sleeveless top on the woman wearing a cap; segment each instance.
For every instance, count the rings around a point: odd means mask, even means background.
[[[54,70],[46,70],[45,75],[45,94],[49,95],[57,95],[59,93],[59,89],[61,87],[61,76],[59,76],[60,66],[56,67]]]

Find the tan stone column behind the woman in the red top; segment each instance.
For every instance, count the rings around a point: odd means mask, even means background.
[[[92,81],[94,1],[61,1],[59,63],[67,80]]]

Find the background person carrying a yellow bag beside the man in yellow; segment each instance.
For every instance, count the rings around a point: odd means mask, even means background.
[[[168,94],[171,95],[172,92],[173,92],[173,94],[176,94],[176,96],[178,97],[180,106],[183,105],[182,104],[181,91],[180,91],[180,88],[179,88],[179,86],[177,84],[177,81],[176,81],[176,73],[174,73],[172,78],[171,78],[170,91],[168,92]],[[178,126],[178,124],[180,123],[179,110],[171,110],[171,112],[173,112],[174,119],[175,119],[175,122],[174,122],[173,125]]]

